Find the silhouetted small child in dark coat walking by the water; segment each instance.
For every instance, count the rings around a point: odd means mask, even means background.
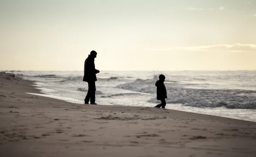
[[[165,108],[166,106],[166,101],[165,99],[167,98],[167,92],[166,92],[166,87],[164,85],[164,80],[165,80],[165,76],[163,74],[159,75],[159,80],[157,80],[156,82],[156,86],[157,86],[157,100],[161,100],[161,103],[158,104],[157,108]]]

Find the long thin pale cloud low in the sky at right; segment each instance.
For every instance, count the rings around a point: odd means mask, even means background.
[[[171,47],[164,49],[150,49],[155,51],[229,51],[229,52],[246,52],[255,51],[256,44],[233,44],[233,45],[207,45],[207,46],[188,46],[188,47]]]

